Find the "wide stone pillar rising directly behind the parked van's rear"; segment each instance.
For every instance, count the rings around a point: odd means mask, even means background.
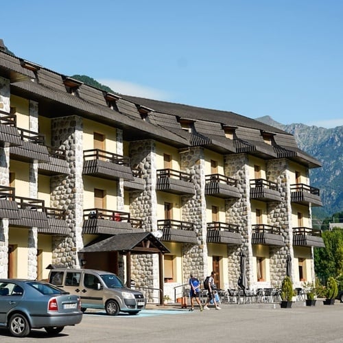
[[[51,177],[51,205],[66,211],[70,233],[54,236],[52,263],[80,267],[77,251],[83,247],[83,121],[70,116],[51,121],[51,145],[66,150],[69,163],[67,176]]]

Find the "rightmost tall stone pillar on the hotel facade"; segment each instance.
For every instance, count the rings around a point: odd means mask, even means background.
[[[292,260],[294,258],[290,173],[286,159],[270,160],[266,168],[267,179],[277,183],[282,199],[267,206],[267,224],[279,227],[285,240],[283,247],[270,247],[270,280],[279,287],[286,275],[287,255],[290,254]]]

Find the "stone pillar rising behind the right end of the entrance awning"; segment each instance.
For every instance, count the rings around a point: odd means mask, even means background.
[[[152,140],[130,143],[131,167],[141,170],[145,180],[145,190],[130,192],[130,215],[142,219],[146,231],[157,230],[156,196],[156,147]],[[132,255],[132,279],[141,287],[159,288],[158,255]],[[154,302],[158,292],[146,294],[148,301]]]

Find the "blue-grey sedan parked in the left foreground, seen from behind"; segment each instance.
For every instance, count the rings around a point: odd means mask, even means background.
[[[12,335],[25,337],[41,328],[57,335],[81,320],[80,296],[42,281],[0,279],[0,327]]]

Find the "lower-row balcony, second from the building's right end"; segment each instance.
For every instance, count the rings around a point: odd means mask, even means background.
[[[285,242],[280,233],[280,228],[265,224],[252,226],[252,244],[262,244],[265,246],[284,246]]]

